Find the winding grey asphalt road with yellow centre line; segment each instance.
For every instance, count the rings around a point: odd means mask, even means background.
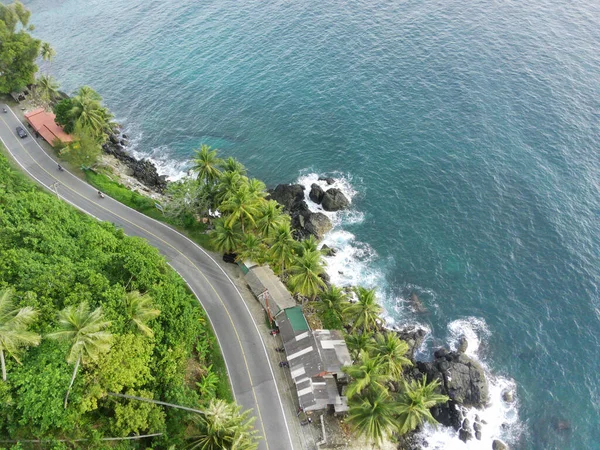
[[[130,236],[156,247],[192,289],[205,309],[225,358],[235,400],[256,417],[255,427],[264,437],[259,448],[294,448],[273,369],[256,323],[240,292],[215,260],[169,226],[105,196],[65,171],[31,135],[17,136],[23,126],[6,105],[0,113],[0,140],[21,168],[35,181],[81,211],[112,222]]]

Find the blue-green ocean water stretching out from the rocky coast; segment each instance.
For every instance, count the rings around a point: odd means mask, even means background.
[[[206,143],[271,186],[340,179],[333,279],[426,327],[423,357],[466,334],[490,376],[484,440],[428,448],[600,448],[600,3],[24,3],[44,70],[163,173]]]

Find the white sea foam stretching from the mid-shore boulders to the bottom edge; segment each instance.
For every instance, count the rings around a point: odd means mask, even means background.
[[[417,327],[425,330],[428,334],[423,346],[439,342],[434,337],[431,328],[426,324],[415,323],[409,310],[406,299],[394,297],[385,279],[385,262],[381,261],[377,252],[365,242],[356,239],[356,236],[345,228],[360,224],[364,221],[364,214],[353,209],[352,200],[358,192],[352,186],[352,176],[348,174],[335,173],[331,175],[335,183],[329,185],[324,180],[319,180],[317,173],[309,172],[302,174],[298,183],[304,186],[305,201],[313,212],[321,212],[332,221],[333,228],[327,233],[322,241],[329,247],[335,248],[334,256],[325,258],[326,271],[331,282],[338,286],[364,286],[377,288],[378,297],[385,307],[384,319],[387,327],[391,329]],[[350,208],[346,211],[329,212],[314,203],[309,198],[312,184],[321,186],[323,190],[338,188],[350,201]],[[405,286],[406,287],[406,286]],[[406,290],[406,289],[405,289]],[[410,290],[415,290],[414,286]],[[419,288],[419,292],[429,292],[425,288]],[[432,292],[429,292],[433,295]],[[489,386],[489,404],[484,409],[463,408],[463,415],[469,419],[471,426],[478,418],[482,425],[481,440],[473,438],[467,443],[461,441],[458,432],[450,427],[431,425],[425,426],[419,434],[423,447],[435,450],[465,450],[465,449],[491,449],[492,442],[500,439],[506,443],[514,443],[523,432],[523,425],[519,422],[518,407],[519,399],[516,396],[516,384],[512,379],[493,375],[482,356],[482,348],[486,346],[491,333],[483,319],[466,317],[454,320],[447,325],[448,332],[446,343],[452,350],[456,350],[461,336],[468,341],[466,354],[481,363]],[[426,352],[417,352],[417,357],[425,355]],[[506,391],[514,394],[514,402],[507,403],[502,399]],[[473,430],[470,430],[473,433]]]

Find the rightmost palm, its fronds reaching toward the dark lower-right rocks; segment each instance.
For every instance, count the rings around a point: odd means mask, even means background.
[[[404,392],[398,399],[398,431],[400,434],[408,433],[424,422],[437,424],[430,410],[435,405],[446,403],[449,400],[446,395],[435,392],[439,385],[438,380],[427,384],[425,377],[420,382],[417,380],[412,380],[410,383],[404,381]]]

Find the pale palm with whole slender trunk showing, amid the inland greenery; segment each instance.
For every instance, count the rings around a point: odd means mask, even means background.
[[[109,331],[103,331],[110,325],[110,322],[104,320],[102,308],[90,311],[87,302],[82,302],[78,306],[67,306],[60,311],[58,313],[58,323],[62,330],[50,333],[46,337],[71,343],[67,362],[69,364],[75,363],[75,369],[65,396],[66,408],[71,388],[79,370],[79,364],[95,361],[102,353],[108,352],[112,334]]]

